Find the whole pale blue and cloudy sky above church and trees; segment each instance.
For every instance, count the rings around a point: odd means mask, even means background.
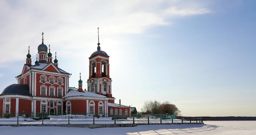
[[[59,67],[88,79],[88,58],[110,56],[112,94],[139,111],[174,103],[184,116],[256,116],[254,0],[0,1],[0,92],[44,43]],[[84,83],[84,88],[86,83]]]

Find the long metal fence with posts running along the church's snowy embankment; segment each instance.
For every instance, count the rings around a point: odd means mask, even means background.
[[[3,113],[1,124],[182,124],[203,123],[202,117],[143,114],[86,114],[49,115],[48,113]]]

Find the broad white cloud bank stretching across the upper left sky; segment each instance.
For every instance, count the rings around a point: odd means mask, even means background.
[[[44,43],[51,44],[53,51],[85,50],[96,44],[98,26],[100,34],[107,39],[116,34],[140,34],[154,26],[169,25],[168,18],[210,12],[198,2],[180,0],[1,1],[0,5],[0,63],[24,60],[28,46],[35,59],[41,32],[45,33]]]

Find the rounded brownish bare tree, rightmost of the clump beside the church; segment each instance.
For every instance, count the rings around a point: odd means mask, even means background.
[[[161,114],[168,113],[170,115],[180,115],[180,110],[176,107],[176,105],[171,104],[168,101],[162,103],[159,109]]]

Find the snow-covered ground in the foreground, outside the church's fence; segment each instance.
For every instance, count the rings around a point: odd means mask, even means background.
[[[136,127],[0,127],[1,135],[255,135],[256,121],[204,121],[205,124],[139,125]]]

